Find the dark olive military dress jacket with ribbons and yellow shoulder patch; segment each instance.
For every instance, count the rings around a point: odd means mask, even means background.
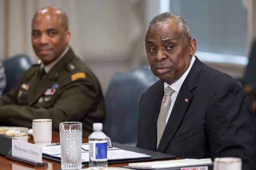
[[[103,95],[94,73],[72,49],[38,81],[39,68],[39,64],[32,66],[0,99],[0,124],[31,128],[33,119],[49,118],[58,131],[60,122],[79,121],[83,137],[88,137],[92,124],[105,119]]]

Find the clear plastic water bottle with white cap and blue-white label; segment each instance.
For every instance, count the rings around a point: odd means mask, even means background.
[[[93,124],[89,135],[89,167],[107,167],[107,136],[102,132],[102,123]]]

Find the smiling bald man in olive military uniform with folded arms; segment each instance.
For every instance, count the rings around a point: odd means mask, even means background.
[[[31,128],[33,119],[49,118],[58,131],[60,122],[80,121],[83,137],[88,137],[93,123],[103,123],[100,84],[68,46],[69,39],[68,18],[61,9],[47,6],[35,13],[32,46],[41,63],[0,99],[1,125]]]

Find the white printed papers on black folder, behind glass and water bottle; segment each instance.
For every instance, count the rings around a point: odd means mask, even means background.
[[[82,149],[83,148],[83,149]],[[89,162],[89,147],[88,144],[82,144],[82,162]],[[43,155],[47,155],[54,158],[61,158],[61,145],[42,147]],[[123,159],[139,159],[139,158],[151,158],[149,155],[142,153],[136,153],[128,150],[121,150],[119,148],[107,148],[108,160],[123,160]]]

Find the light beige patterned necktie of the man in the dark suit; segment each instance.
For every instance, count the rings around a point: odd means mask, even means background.
[[[173,92],[174,92],[174,90],[171,89],[171,87],[167,86],[165,88],[165,95],[162,100],[161,109],[160,109],[160,113],[159,113],[158,120],[157,120],[157,145],[156,145],[156,148],[158,147],[159,142],[160,142],[162,135],[164,133],[164,130],[165,130],[166,118],[167,118],[168,110],[169,110],[170,104],[171,104],[171,94]]]

